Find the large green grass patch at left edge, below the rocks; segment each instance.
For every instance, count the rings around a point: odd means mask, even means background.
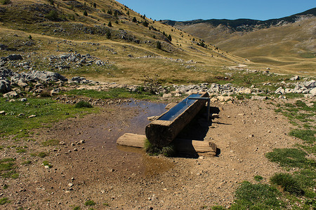
[[[0,136],[15,134],[23,138],[29,137],[29,130],[94,111],[94,109],[91,111],[74,109],[73,105],[60,104],[52,99],[28,99],[28,103],[5,102],[5,99],[0,99],[0,110],[8,113],[5,116],[0,116]],[[24,113],[25,116],[17,117],[20,113]],[[31,115],[37,117],[28,118]]]

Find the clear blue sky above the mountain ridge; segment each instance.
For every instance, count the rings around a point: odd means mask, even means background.
[[[315,0],[118,0],[153,20],[284,18],[316,7]]]

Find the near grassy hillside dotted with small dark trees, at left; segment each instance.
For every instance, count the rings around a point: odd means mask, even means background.
[[[143,83],[144,76],[158,74],[163,83],[197,83],[224,66],[246,62],[249,68],[264,67],[117,1],[11,0],[0,5],[0,37],[4,45],[0,56],[22,54],[35,70],[60,71],[49,65],[50,55],[77,52],[98,57],[108,65],[78,66],[60,73],[101,81]]]

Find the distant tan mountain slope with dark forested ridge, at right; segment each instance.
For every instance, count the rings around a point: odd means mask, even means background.
[[[315,71],[316,8],[273,20],[164,21],[252,62]]]

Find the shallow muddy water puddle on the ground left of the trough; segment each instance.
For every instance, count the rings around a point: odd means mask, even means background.
[[[116,141],[125,133],[145,134],[145,127],[149,116],[159,116],[166,111],[166,104],[152,102],[132,101],[122,104],[122,109],[130,109],[131,115],[120,118],[113,122],[108,120],[105,125],[98,125],[87,130],[87,135],[91,139],[87,146],[91,146],[100,153],[100,156],[107,161],[104,162],[108,168],[123,174],[143,174],[150,176],[161,173],[173,167],[169,160],[162,158],[149,157],[140,148],[129,148],[117,146]],[[113,118],[116,118],[113,116]],[[130,172],[130,173],[129,173]]]

